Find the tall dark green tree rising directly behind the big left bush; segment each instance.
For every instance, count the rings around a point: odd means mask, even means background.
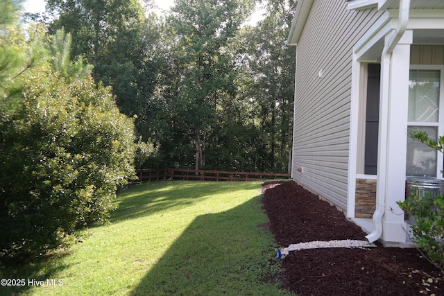
[[[146,2],[146,1],[145,1]],[[95,82],[112,86],[120,110],[141,112],[153,92],[147,59],[145,10],[139,0],[48,0],[56,12],[50,32],[65,28],[72,36],[73,55],[94,66]]]

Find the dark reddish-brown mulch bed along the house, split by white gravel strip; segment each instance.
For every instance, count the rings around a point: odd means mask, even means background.
[[[263,185],[270,231],[282,247],[308,241],[365,240],[345,216],[292,181]],[[330,248],[290,252],[280,272],[298,295],[444,295],[444,280],[416,249]]]

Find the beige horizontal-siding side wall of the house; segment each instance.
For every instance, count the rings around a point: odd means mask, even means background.
[[[352,49],[380,15],[376,8],[354,11],[345,1],[315,0],[296,47],[291,175],[342,209],[348,195]]]

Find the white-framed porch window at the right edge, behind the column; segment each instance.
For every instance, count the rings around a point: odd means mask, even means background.
[[[437,139],[443,132],[444,98],[443,67],[411,66],[409,76],[408,134],[422,130]],[[443,156],[433,148],[407,137],[407,176],[439,177],[443,169]]]

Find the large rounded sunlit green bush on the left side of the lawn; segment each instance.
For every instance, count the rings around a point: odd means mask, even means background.
[[[133,121],[110,89],[50,71],[23,85],[15,110],[0,114],[0,258],[40,254],[103,223],[134,175]]]

